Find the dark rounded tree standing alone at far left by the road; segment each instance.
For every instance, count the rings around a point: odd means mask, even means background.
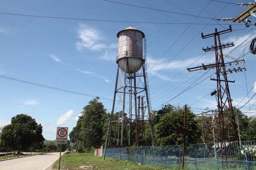
[[[41,147],[44,137],[42,125],[26,114],[12,117],[11,124],[3,127],[0,139],[3,146],[13,150],[28,150],[29,147]]]

